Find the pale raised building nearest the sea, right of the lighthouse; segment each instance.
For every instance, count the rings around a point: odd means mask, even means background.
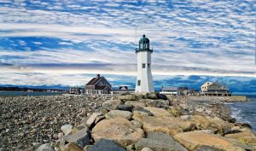
[[[201,95],[203,96],[231,96],[229,88],[217,82],[206,82],[201,85]]]

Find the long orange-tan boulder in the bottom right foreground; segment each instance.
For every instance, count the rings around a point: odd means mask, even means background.
[[[189,150],[196,150],[201,146],[208,146],[229,151],[245,151],[223,137],[207,133],[206,131],[189,131],[174,136],[177,142]]]

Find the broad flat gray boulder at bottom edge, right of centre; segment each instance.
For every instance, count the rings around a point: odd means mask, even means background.
[[[139,140],[135,147],[137,150],[152,148],[154,151],[188,151],[171,136],[160,132],[148,132],[147,138]]]

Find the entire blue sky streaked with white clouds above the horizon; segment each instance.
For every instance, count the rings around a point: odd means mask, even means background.
[[[211,80],[256,95],[254,0],[0,0],[0,85],[134,87],[150,39],[154,87]],[[136,34],[137,28],[137,34]]]

